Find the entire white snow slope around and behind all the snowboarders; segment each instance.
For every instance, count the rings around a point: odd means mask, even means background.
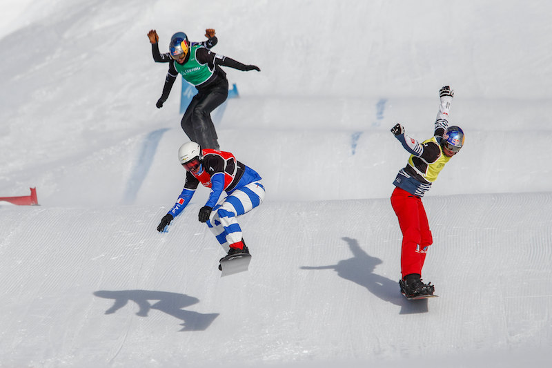
[[[6,10],[6,11],[4,11]],[[547,367],[552,361],[552,26],[547,1],[6,1],[0,15],[0,367]],[[262,72],[226,69],[219,142],[264,177],[240,221],[248,273],[181,191],[177,30]],[[466,146],[424,199],[435,243],[400,296],[389,204],[456,90]]]

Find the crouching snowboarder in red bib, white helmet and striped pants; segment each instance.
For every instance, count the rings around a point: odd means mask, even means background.
[[[161,219],[157,231],[164,231],[192,199],[199,183],[211,189],[205,206],[199,210],[199,222],[206,222],[219,244],[229,255],[249,253],[237,216],[262,204],[264,187],[260,175],[239,162],[232,153],[201,150],[196,142],[187,142],[178,150],[180,164],[186,169],[184,190],[172,209]],[[227,196],[221,203],[219,197]],[[219,267],[220,269],[220,267]]]

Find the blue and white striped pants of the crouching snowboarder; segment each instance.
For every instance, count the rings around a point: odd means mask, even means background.
[[[247,184],[233,191],[224,202],[217,204],[211,212],[207,226],[215,234],[219,244],[228,252],[230,244],[242,240],[242,228],[236,217],[248,213],[262,204],[264,187],[259,181]]]

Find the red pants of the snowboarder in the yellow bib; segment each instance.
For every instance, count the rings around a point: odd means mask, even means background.
[[[411,273],[422,275],[427,247],[433,244],[422,199],[395,187],[391,195],[391,206],[397,214],[402,231],[402,277]]]

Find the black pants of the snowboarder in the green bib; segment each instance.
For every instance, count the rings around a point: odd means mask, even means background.
[[[190,141],[204,148],[219,149],[217,131],[211,119],[211,112],[228,98],[228,80],[220,78],[206,88],[198,90],[190,101],[180,125]]]

